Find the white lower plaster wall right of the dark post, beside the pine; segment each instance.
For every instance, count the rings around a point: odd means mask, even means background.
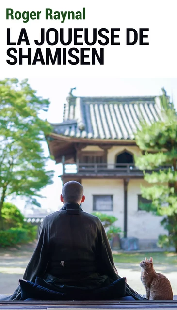
[[[158,239],[159,234],[166,231],[161,226],[163,217],[155,216],[150,212],[138,211],[138,195],[141,187],[149,186],[143,179],[131,179],[128,184],[128,237],[139,239]]]

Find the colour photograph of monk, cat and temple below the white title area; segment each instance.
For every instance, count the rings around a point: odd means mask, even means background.
[[[101,288],[126,276],[135,300],[148,294],[145,271],[160,271],[159,281],[169,286],[165,298],[173,299],[176,85],[176,78],[0,80],[4,298],[21,298],[15,289],[24,272],[31,283],[54,291],[66,285],[67,294],[69,284],[81,290],[81,278],[93,291],[102,268]],[[102,225],[106,234],[99,240]],[[157,292],[164,298],[163,290]]]

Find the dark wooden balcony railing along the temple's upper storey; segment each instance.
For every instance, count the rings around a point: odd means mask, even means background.
[[[167,167],[161,167],[153,171],[159,171]],[[135,167],[134,164],[65,164],[63,163],[63,175],[77,174],[84,175],[140,175],[143,176],[143,171]]]

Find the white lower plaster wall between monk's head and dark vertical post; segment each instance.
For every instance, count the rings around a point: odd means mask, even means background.
[[[118,218],[116,225],[124,228],[124,185],[123,180],[113,179],[82,179],[85,202],[82,208],[88,213],[93,212],[93,195],[113,195],[113,211],[103,213]]]

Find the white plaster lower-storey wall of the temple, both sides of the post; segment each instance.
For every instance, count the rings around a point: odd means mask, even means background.
[[[132,179],[128,184],[128,237],[139,239],[158,239],[159,234],[166,233],[160,225],[162,217],[146,211],[138,211],[138,194],[141,194],[140,184],[148,186],[143,179]],[[103,213],[118,218],[115,223],[124,230],[124,185],[123,180],[113,179],[82,179],[85,202],[84,211],[93,212],[93,195],[113,195],[113,211]]]

